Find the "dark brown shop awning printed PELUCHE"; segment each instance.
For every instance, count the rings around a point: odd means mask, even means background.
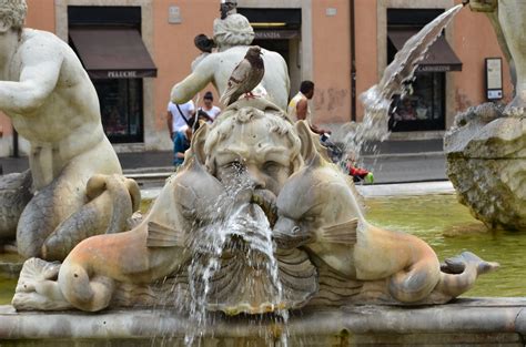
[[[92,79],[154,78],[155,64],[132,28],[71,28],[70,39]]]

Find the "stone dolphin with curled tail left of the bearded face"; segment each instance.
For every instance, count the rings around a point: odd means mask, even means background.
[[[168,180],[139,225],[129,232],[82,241],[60,267],[29,259],[12,305],[19,310],[53,309],[50,302],[54,302],[55,309],[69,304],[97,312],[110,305],[119,283],[152,283],[188,265],[192,256],[188,246],[200,223],[195,217],[215,218],[203,211],[204,204],[213,204],[223,192],[221,183],[208,174],[194,151],[205,133],[203,127],[195,134],[192,154],[186,156],[182,170]],[[36,276],[39,269],[45,274]]]

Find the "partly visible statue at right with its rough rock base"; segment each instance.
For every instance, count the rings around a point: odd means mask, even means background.
[[[444,139],[447,175],[461,203],[489,228],[526,229],[526,2],[472,0],[488,13],[512,69],[515,98],[458,114]],[[515,73],[516,72],[516,73]]]

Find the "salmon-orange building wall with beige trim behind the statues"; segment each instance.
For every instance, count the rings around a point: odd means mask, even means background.
[[[27,0],[27,25],[68,37],[68,4],[140,6],[142,35],[158,68],[158,78],[144,79],[144,143],[115,145],[119,151],[170,150],[165,116],[172,85],[190,73],[192,61],[200,54],[193,39],[199,33],[212,35],[213,20],[220,1],[214,0]],[[449,8],[461,0],[354,0],[356,96],[375,84],[386,63],[386,9]],[[169,23],[170,7],[176,6],[181,23]],[[239,0],[245,8],[299,8],[302,10],[301,38],[291,41],[294,94],[301,80],[316,83],[313,111],[315,122],[338,124],[351,120],[351,0]],[[463,62],[462,72],[447,73],[447,126],[454,115],[485,101],[484,59],[503,57],[489,21],[482,13],[463,9],[447,28],[446,38]],[[505,100],[512,98],[507,64],[504,65]],[[211,85],[206,90],[213,90]],[[215,101],[219,100],[213,90]],[[204,93],[204,91],[201,93]],[[363,118],[360,100],[356,116]],[[12,126],[0,115],[3,135],[0,156],[12,154]],[[407,133],[415,139],[416,133]],[[23,153],[28,145],[20,141]]]

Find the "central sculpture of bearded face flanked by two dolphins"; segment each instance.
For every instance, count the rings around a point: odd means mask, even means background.
[[[240,100],[194,134],[136,226],[84,239],[60,266],[26,262],[13,306],[195,304],[239,315],[444,304],[498,267],[467,252],[441,265],[422,239],[367,223],[352,180],[324,151],[306,122],[293,125],[265,99]]]

